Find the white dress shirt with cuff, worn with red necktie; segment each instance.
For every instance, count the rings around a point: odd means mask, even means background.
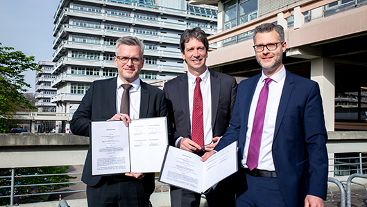
[[[203,96],[203,121],[204,121],[204,144],[208,145],[212,142],[212,92],[210,90],[210,73],[208,69],[199,76],[201,96]],[[194,104],[194,89],[196,86],[196,76],[187,72],[187,78],[189,82],[189,112],[190,112],[190,126],[192,130],[192,105]],[[179,137],[176,141],[176,147],[178,141],[183,137]]]

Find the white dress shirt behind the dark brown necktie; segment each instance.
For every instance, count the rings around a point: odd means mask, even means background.
[[[116,89],[116,112],[117,114],[120,113],[120,106],[121,106],[121,98],[122,93],[124,91],[123,87],[121,86],[123,81],[120,77],[117,78],[117,89]],[[140,78],[134,80],[131,85],[130,89],[130,118],[138,119],[139,118],[139,111],[140,111]]]

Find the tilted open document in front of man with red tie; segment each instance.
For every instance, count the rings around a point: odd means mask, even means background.
[[[171,186],[203,193],[237,172],[237,142],[216,152],[207,161],[192,152],[168,146],[159,181]]]

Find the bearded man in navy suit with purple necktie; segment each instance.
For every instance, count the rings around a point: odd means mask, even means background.
[[[284,68],[282,26],[257,26],[253,40],[262,74],[239,84],[230,127],[214,148],[239,143],[236,206],[324,206],[327,132],[318,84]]]

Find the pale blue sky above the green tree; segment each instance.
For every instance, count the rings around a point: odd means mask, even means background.
[[[53,15],[59,0],[0,0],[0,42],[22,51],[27,57],[35,56],[35,62],[51,60]],[[28,71],[28,92],[35,92],[35,71]]]

